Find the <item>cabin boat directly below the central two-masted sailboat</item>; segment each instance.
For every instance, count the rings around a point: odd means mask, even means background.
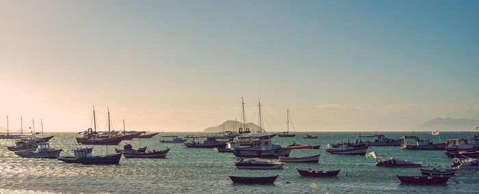
[[[289,156],[291,150],[283,149],[281,144],[272,143],[271,139],[263,139],[261,140],[261,144],[257,146],[233,148],[231,152],[237,157],[270,158]]]

